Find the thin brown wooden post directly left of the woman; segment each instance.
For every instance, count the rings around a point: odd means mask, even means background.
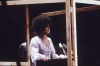
[[[29,43],[30,43],[30,36],[29,36],[29,12],[28,12],[28,4],[26,4],[26,51],[27,51],[27,62],[28,66],[30,66],[30,50],[29,50]]]

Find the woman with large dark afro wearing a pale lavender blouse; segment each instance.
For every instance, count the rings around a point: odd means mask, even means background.
[[[30,42],[31,60],[35,66],[36,60],[61,58],[56,54],[52,40],[48,37],[51,23],[51,18],[46,15],[37,16],[32,21],[32,27],[37,33]]]

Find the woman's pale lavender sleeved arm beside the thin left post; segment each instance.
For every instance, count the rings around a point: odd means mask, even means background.
[[[30,54],[32,62],[45,58],[45,55],[39,53],[38,42],[35,39],[32,39],[30,42]]]

